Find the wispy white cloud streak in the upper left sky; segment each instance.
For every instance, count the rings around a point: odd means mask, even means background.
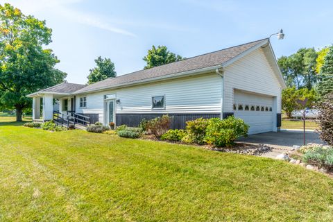
[[[123,28],[112,26],[112,24],[103,21],[103,19],[97,16],[89,15],[86,12],[83,13],[78,10],[73,10],[69,7],[72,4],[80,3],[81,1],[82,0],[13,0],[10,3],[13,6],[21,9],[25,14],[35,14],[41,11],[50,11],[51,13],[65,17],[72,22],[101,28],[121,35],[129,35],[133,37],[135,36],[134,33],[126,31]],[[5,2],[6,1],[0,1],[1,4]]]

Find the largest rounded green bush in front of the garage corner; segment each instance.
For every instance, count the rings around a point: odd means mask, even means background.
[[[248,128],[248,124],[242,119],[234,117],[212,118],[207,124],[205,142],[220,147],[232,146],[235,139],[248,135]]]

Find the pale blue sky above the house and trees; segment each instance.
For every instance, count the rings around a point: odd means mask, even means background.
[[[98,56],[111,58],[118,76],[144,67],[155,45],[198,56],[268,37],[275,55],[333,43],[333,1],[12,0],[2,1],[53,29],[48,46],[70,83],[86,83]]]

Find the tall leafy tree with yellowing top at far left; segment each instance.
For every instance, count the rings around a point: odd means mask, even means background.
[[[9,3],[0,5],[0,106],[22,110],[31,107],[26,94],[61,83],[67,74],[54,69],[59,60],[51,49],[51,28]]]

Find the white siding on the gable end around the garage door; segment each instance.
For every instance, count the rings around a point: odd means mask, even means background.
[[[281,112],[281,86],[262,49],[257,49],[225,69],[223,112],[233,112],[234,89],[276,96]]]

